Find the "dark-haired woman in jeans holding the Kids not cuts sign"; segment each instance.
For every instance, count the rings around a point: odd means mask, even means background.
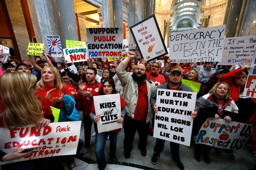
[[[115,88],[114,81],[111,79],[107,79],[103,81],[101,90],[98,95],[110,95],[110,94],[117,94],[117,91]],[[121,96],[120,96],[120,101],[121,101],[121,117],[117,119],[117,123],[123,123],[124,116],[126,114],[125,103]],[[92,103],[90,117],[94,122],[94,128],[96,131],[95,156],[96,156],[99,170],[104,170],[107,166],[104,149],[105,149],[105,144],[106,144],[108,135],[110,138],[110,158],[113,164],[117,165],[119,162],[118,162],[118,159],[116,158],[116,144],[117,144],[117,136],[120,129],[98,133],[96,122],[100,120],[101,114],[95,113],[94,103]]]

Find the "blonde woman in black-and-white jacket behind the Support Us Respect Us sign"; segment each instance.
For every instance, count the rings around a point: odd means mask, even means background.
[[[198,131],[207,118],[223,119],[227,122],[236,121],[238,116],[238,107],[234,100],[230,98],[229,85],[225,82],[219,82],[213,86],[208,94],[200,97],[200,109],[193,123],[193,128]],[[209,136],[210,137],[210,136]],[[196,144],[194,158],[200,162],[200,154],[203,151],[204,162],[210,163],[209,153],[212,146]],[[225,152],[232,153],[231,149],[225,149]],[[232,153],[233,154],[233,153]]]

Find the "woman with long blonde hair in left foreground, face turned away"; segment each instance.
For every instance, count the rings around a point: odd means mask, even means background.
[[[52,112],[47,112],[47,108],[38,100],[36,89],[37,78],[28,73],[10,73],[4,74],[0,78],[0,124],[7,129],[34,124],[36,129],[47,126],[51,120],[45,119],[44,116],[52,116]],[[46,100],[45,100],[46,101]],[[47,103],[47,102],[46,102]],[[48,103],[47,103],[48,104]],[[42,107],[43,105],[43,107]],[[49,106],[48,106],[49,107]],[[50,108],[49,108],[50,109]],[[47,113],[46,113],[47,112]],[[53,117],[53,116],[52,116]],[[53,118],[54,120],[54,118]],[[10,161],[15,159],[26,158],[31,153],[27,151],[19,153],[23,144],[12,148],[5,148],[0,151],[1,161]],[[1,165],[2,170],[46,170],[48,158],[27,160],[11,164]]]

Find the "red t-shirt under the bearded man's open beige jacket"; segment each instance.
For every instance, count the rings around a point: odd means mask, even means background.
[[[135,108],[134,120],[146,121],[148,115],[148,89],[146,81],[138,83],[138,101]]]

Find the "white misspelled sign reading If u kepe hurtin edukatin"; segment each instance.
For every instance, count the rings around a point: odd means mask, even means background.
[[[154,137],[190,146],[196,93],[157,89]]]

